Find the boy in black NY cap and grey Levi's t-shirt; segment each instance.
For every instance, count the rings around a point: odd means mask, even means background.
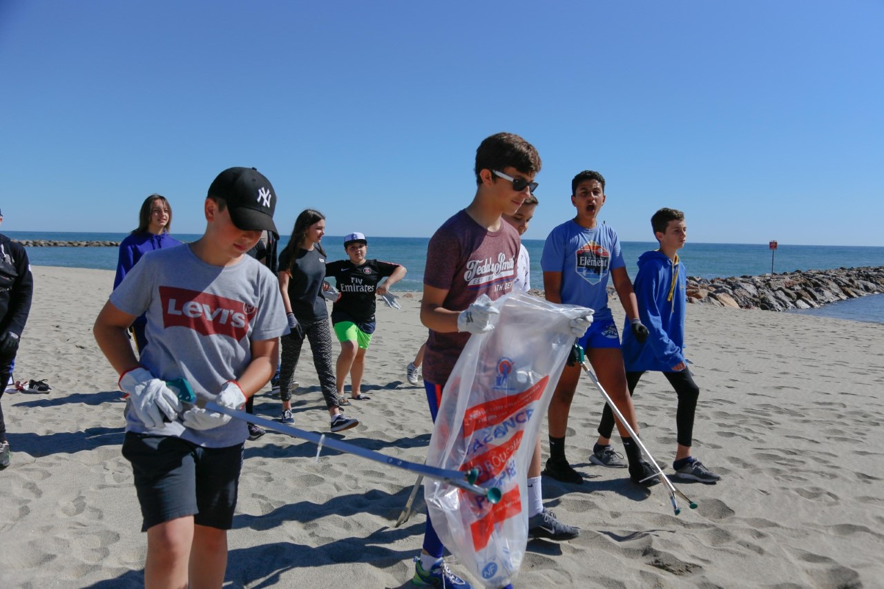
[[[245,422],[182,406],[166,385],[230,409],[276,370],[286,313],[272,272],[245,256],[273,223],[276,195],[254,168],[218,174],[203,204],[206,231],[187,247],[141,258],[95,320],[95,340],[128,393],[123,455],[148,533],[145,585],[221,586],[236,505]],[[126,328],[145,314],[141,363]]]

